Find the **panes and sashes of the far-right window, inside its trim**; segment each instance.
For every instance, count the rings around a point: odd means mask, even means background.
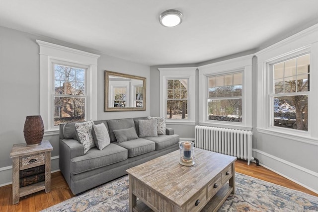
[[[308,131],[310,54],[271,64],[271,126]]]

